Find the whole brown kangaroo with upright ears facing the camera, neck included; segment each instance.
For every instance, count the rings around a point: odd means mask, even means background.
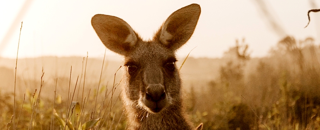
[[[92,27],[102,43],[124,56],[121,99],[129,130],[194,129],[183,108],[175,52],[190,39],[200,13],[198,4],[175,11],[149,41],[118,17],[92,17]],[[196,129],[202,129],[202,124]]]

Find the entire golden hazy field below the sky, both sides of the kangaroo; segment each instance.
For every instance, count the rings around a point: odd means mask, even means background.
[[[187,58],[180,73],[185,107],[195,126],[320,129],[319,45],[312,38],[288,36],[262,58],[250,57],[247,48],[242,40],[222,58]],[[24,58],[15,69],[16,59],[0,58],[0,127],[125,129],[119,99],[124,67],[117,72],[121,61],[115,59],[90,54]]]

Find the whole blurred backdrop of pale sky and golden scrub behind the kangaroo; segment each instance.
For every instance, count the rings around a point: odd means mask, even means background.
[[[180,71],[195,126],[202,122],[204,129],[220,130],[320,128],[320,13],[311,12],[305,28],[308,11],[320,8],[316,0],[0,1],[1,126],[59,129],[56,120],[65,120],[68,103],[83,107],[86,97],[89,105],[79,122],[104,117],[95,128],[125,129],[121,89],[115,97],[108,94],[122,57],[106,50],[91,26],[92,16],[119,17],[148,40],[171,13],[192,3],[200,4],[201,15],[177,55],[181,65],[195,48]],[[116,74],[116,86],[122,84],[121,74]],[[43,95],[37,106],[40,88]],[[71,100],[73,90],[76,98]],[[101,114],[110,108],[110,99],[115,100],[112,118]],[[13,110],[16,124],[7,125]],[[112,125],[106,126],[108,122]]]

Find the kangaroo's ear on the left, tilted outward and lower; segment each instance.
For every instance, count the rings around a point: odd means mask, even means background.
[[[110,15],[96,14],[91,25],[102,43],[111,51],[126,55],[138,41],[138,35],[124,20]]]

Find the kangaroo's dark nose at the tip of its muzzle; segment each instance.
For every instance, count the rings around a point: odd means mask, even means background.
[[[147,87],[146,99],[157,102],[165,99],[166,94],[164,90],[164,86],[161,84],[151,84]]]

